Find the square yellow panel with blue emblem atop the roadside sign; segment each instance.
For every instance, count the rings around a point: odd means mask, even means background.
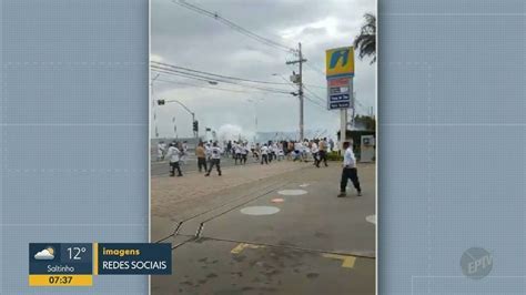
[[[344,47],[325,51],[326,77],[354,77],[354,48]]]

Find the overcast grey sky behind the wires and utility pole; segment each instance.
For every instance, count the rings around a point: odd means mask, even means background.
[[[311,67],[304,67],[303,81],[320,98],[326,98],[325,50],[351,45],[363,23],[363,14],[376,14],[374,0],[186,0],[221,17],[292,48],[302,42],[304,57]],[[286,65],[294,59],[291,53],[274,49],[250,39],[221,22],[173,3],[171,0],[151,2],[151,59],[195,70],[245,79],[284,82],[279,73],[289,79],[297,65]],[[318,71],[312,68],[318,69]],[[374,106],[375,64],[356,59],[354,88],[364,108]],[[321,72],[322,73],[321,73]],[[152,73],[152,77],[154,73]],[[162,80],[162,81],[161,81]],[[299,130],[299,99],[292,95],[262,92],[227,92],[166,80],[212,87],[203,81],[161,74],[153,84],[154,99],[176,99],[193,110],[200,121],[200,132],[205,126],[220,130],[225,124],[251,134],[255,131],[284,132]],[[250,91],[220,83],[216,88]],[[290,85],[273,85],[293,91]],[[305,92],[313,100],[313,94]],[[250,102],[257,100],[255,104]],[[321,104],[325,105],[323,102]],[[174,136],[172,119],[175,118],[179,136],[191,136],[190,114],[175,103],[154,106],[160,136]],[[305,129],[338,129],[338,111],[327,111],[305,101]],[[154,130],[152,126],[152,134]]]

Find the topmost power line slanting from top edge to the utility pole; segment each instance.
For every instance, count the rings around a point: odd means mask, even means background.
[[[214,19],[214,20],[216,20],[216,21],[219,21],[219,22],[222,22],[223,24],[225,24],[225,26],[227,26],[229,28],[231,28],[231,29],[237,31],[239,33],[242,33],[242,34],[244,34],[244,35],[246,35],[246,37],[249,37],[249,38],[252,38],[253,40],[256,40],[256,41],[259,41],[259,42],[261,42],[261,43],[263,43],[263,44],[266,44],[266,45],[272,47],[272,48],[275,48],[275,49],[280,49],[280,50],[285,51],[285,52],[295,52],[295,49],[292,49],[292,48],[290,48],[290,47],[287,47],[287,45],[284,45],[284,44],[282,44],[282,43],[279,43],[279,42],[273,41],[273,40],[271,40],[271,39],[264,38],[264,37],[260,35],[260,34],[254,33],[254,32],[251,32],[251,31],[244,29],[243,27],[241,27],[241,26],[239,26],[239,24],[236,24],[236,23],[234,23],[234,22],[232,22],[232,21],[230,21],[230,20],[227,20],[227,19],[225,19],[225,18],[219,16],[218,12],[212,12],[212,11],[205,10],[205,9],[203,9],[203,8],[200,8],[200,7],[195,6],[195,4],[191,4],[191,3],[189,3],[189,2],[186,2],[186,1],[184,1],[184,0],[172,1],[172,2],[175,3],[175,4],[179,4],[179,6],[181,6],[181,7],[184,7],[184,8],[186,8],[186,9],[190,9],[190,10],[192,10],[192,11],[194,11],[194,12],[198,12],[198,13],[200,13],[200,14],[203,14],[203,16],[206,16],[206,17],[209,17],[209,18],[212,18],[212,19]]]

